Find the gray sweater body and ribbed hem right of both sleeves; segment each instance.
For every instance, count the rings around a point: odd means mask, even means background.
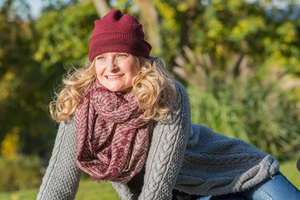
[[[191,194],[219,195],[244,190],[279,169],[267,153],[240,139],[192,124],[174,188]]]

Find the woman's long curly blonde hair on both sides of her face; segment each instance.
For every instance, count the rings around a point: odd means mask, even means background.
[[[166,61],[162,57],[150,59],[132,55],[133,62],[139,67],[138,75],[132,79],[133,92],[138,106],[144,111],[143,120],[166,120],[170,109],[170,99],[175,95],[175,86],[166,72]],[[49,104],[52,118],[57,121],[67,120],[76,110],[85,89],[96,78],[95,59],[88,60],[83,68],[69,70],[62,78],[62,89],[54,92]]]

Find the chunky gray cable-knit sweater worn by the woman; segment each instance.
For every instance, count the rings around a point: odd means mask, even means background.
[[[176,99],[167,123],[150,122],[140,194],[126,183],[112,182],[121,199],[171,199],[173,188],[201,195],[231,193],[278,171],[278,162],[256,147],[191,124],[186,90],[177,81],[175,85]],[[37,199],[74,199],[82,174],[74,163],[75,150],[75,122],[71,117],[59,124]]]

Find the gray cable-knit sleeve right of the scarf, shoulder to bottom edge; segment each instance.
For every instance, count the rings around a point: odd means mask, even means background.
[[[175,81],[176,99],[167,122],[153,126],[140,200],[171,199],[189,137],[190,107],[183,85]]]

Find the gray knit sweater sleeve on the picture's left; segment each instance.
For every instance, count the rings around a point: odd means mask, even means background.
[[[76,134],[73,116],[59,124],[52,155],[37,194],[41,199],[75,198],[82,174],[75,162]]]

